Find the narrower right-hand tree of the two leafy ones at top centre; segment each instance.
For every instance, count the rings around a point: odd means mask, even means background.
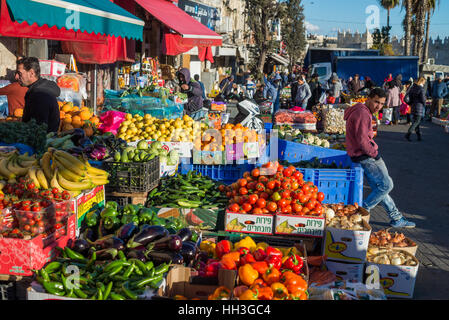
[[[282,40],[285,42],[290,60],[290,70],[306,48],[306,27],[304,25],[304,7],[301,0],[287,0],[285,16],[282,20]]]

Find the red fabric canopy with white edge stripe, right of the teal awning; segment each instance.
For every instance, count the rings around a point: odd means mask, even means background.
[[[222,37],[167,0],[136,0],[148,13],[175,33],[164,33],[164,53],[178,55],[193,47],[221,46]],[[201,49],[204,50],[204,49]],[[206,54],[206,58],[210,56]]]

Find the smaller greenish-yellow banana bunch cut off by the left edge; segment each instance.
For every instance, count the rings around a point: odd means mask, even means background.
[[[17,151],[0,154],[0,176],[8,182],[15,182],[16,178],[24,177],[31,167],[37,164],[35,157],[28,153],[20,155]]]

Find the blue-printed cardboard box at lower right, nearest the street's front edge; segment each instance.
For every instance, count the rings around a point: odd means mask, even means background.
[[[418,260],[414,258],[416,262]],[[388,298],[413,298],[419,262],[416,266],[393,266],[367,262],[379,268],[380,284]]]

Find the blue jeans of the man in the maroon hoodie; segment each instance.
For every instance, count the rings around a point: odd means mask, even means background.
[[[363,207],[370,211],[380,203],[392,220],[401,219],[402,214],[396,208],[393,199],[388,195],[393,190],[393,180],[388,175],[387,167],[382,158],[379,160],[368,158],[360,161],[360,165],[372,190],[363,201]]]

